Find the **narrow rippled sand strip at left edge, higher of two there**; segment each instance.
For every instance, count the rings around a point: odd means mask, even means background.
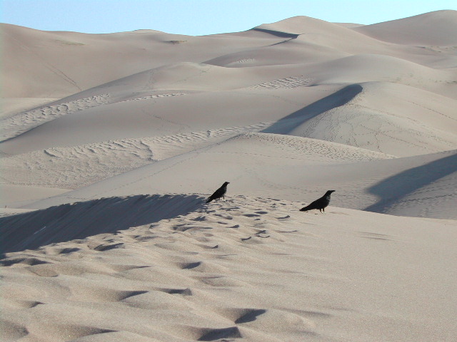
[[[33,110],[27,110],[26,112],[14,115],[11,118],[1,120],[0,141],[14,138],[36,126],[60,118],[61,116],[76,113],[80,110],[86,110],[98,105],[106,105],[109,103],[109,98],[109,94],[94,95],[89,98],[81,98],[66,103],[46,105]]]

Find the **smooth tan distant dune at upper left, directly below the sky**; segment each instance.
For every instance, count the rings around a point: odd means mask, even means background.
[[[2,24],[1,30],[6,52],[4,81],[9,84],[6,97],[64,97],[164,64],[199,62],[215,58],[221,51],[229,53],[281,41],[269,36],[216,39],[154,30],[49,32],[9,24]]]

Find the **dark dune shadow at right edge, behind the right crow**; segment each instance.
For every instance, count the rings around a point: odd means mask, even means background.
[[[368,188],[368,192],[379,197],[379,200],[363,210],[386,212],[402,197],[456,171],[457,153],[388,177]]]

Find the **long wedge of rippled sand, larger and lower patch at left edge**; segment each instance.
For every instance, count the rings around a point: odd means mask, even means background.
[[[258,123],[216,130],[110,140],[75,147],[4,157],[2,181],[11,185],[35,185],[76,189],[106,178],[226,140],[231,136],[258,132],[272,123]]]

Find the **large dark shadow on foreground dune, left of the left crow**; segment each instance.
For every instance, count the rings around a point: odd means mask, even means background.
[[[102,233],[188,214],[204,204],[198,195],[135,195],[61,204],[0,218],[0,254],[47,244],[84,239]]]

